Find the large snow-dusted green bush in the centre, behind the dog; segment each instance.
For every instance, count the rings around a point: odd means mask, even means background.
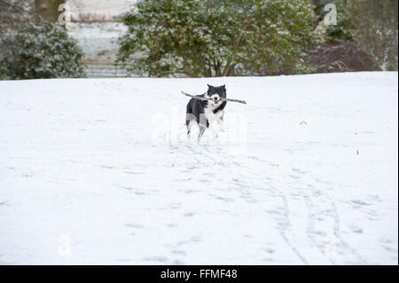
[[[303,74],[312,42],[307,0],[147,0],[124,19],[119,61],[140,74]],[[130,65],[131,64],[131,65]]]

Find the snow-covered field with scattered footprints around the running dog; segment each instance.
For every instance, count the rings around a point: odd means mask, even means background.
[[[207,83],[247,106],[190,144]],[[397,83],[0,82],[0,263],[397,264]]]

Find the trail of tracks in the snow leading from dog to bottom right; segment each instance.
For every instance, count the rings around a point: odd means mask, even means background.
[[[246,190],[246,193],[248,193],[248,197],[252,197],[252,190],[253,189],[262,189],[259,188],[259,183],[260,180],[262,180],[262,183],[266,186],[271,187],[271,191],[278,195],[278,198],[282,201],[283,208],[281,214],[278,214],[277,216],[274,216],[275,221],[278,222],[279,224],[279,234],[281,238],[286,242],[286,245],[292,249],[293,254],[296,255],[301,263],[304,264],[309,264],[311,261],[307,258],[306,255],[304,255],[301,250],[305,249],[309,251],[310,247],[303,247],[302,245],[296,245],[292,240],[296,239],[297,237],[297,232],[290,231],[292,229],[292,219],[291,219],[291,211],[290,211],[290,205],[288,202],[288,199],[292,200],[292,197],[288,195],[286,192],[283,192],[281,190],[278,190],[275,185],[271,185],[271,183],[276,182],[275,180],[269,180],[267,182],[264,182],[264,176],[262,175],[262,171],[259,170],[259,168],[264,168],[265,166],[270,166],[270,163],[268,161],[262,161],[259,158],[254,159],[253,157],[249,156],[244,156],[244,164],[248,165],[252,162],[258,163],[257,165],[254,165],[254,169],[251,168],[245,168],[243,169],[243,166],[239,164],[237,161],[237,158],[234,158],[230,154],[227,154],[223,152],[223,148],[218,148],[218,147],[211,147],[214,148],[215,151],[210,150],[207,148],[208,146],[212,145],[184,145],[184,146],[175,146],[172,148],[179,153],[183,153],[186,156],[189,156],[192,158],[197,164],[199,164],[200,168],[202,169],[207,169],[211,168],[215,170],[215,166],[218,167],[218,171],[221,171],[223,169],[226,175],[229,176],[229,182],[231,183],[231,186],[237,185],[236,183],[232,182],[231,179],[231,174],[236,176],[238,180],[241,180],[241,186]],[[184,150],[182,151],[182,148]],[[222,162],[221,162],[222,161]],[[252,164],[254,164],[252,163]],[[226,165],[227,164],[227,165]],[[275,168],[273,166],[273,168]],[[278,167],[276,167],[278,168]],[[275,168],[275,169],[276,169]],[[248,174],[249,173],[249,174]],[[309,172],[306,173],[307,177],[309,177]],[[219,182],[220,180],[217,179],[215,176],[209,175],[208,176],[211,179],[214,179],[215,181]],[[326,247],[325,242],[320,240],[320,237],[315,237],[317,236],[317,233],[322,233],[322,232],[317,232],[315,229],[317,228],[315,224],[317,224],[317,216],[325,216],[325,217],[332,217],[333,219],[333,227],[330,227],[327,229],[327,231],[331,231],[331,233],[325,233],[325,235],[330,235],[334,237],[332,242],[337,242],[340,244],[338,249],[340,249],[340,252],[344,253],[349,253],[353,255],[356,258],[357,263],[364,263],[364,260],[354,248],[350,248],[348,243],[345,242],[340,236],[340,216],[338,214],[338,211],[335,207],[334,201],[328,197],[326,193],[322,193],[319,190],[316,190],[314,187],[317,185],[317,182],[315,178],[312,177],[312,182],[311,184],[309,182],[303,183],[300,181],[300,177],[295,180],[297,185],[300,185],[302,187],[308,187],[307,190],[301,190],[301,192],[298,192],[298,189],[291,189],[291,193],[301,193],[301,198],[306,204],[306,207],[308,208],[308,216],[307,216],[307,231],[304,232],[304,235],[309,239],[309,242],[314,245],[317,250],[325,256],[325,259],[332,264],[337,264],[336,259],[334,259],[333,255],[328,255],[328,252],[326,252]],[[309,184],[308,184],[309,183]],[[268,192],[268,189],[263,189],[265,193]],[[270,189],[269,189],[270,191]],[[308,193],[310,192],[310,193]],[[320,194],[321,193],[321,194]],[[270,194],[268,195],[270,197]],[[317,200],[315,200],[315,197]],[[290,201],[291,201],[290,200]],[[294,200],[298,201],[298,200]],[[317,206],[315,206],[313,203],[314,202],[322,202],[322,203],[328,203],[326,207],[330,207],[330,209],[327,211],[328,213],[325,212],[324,209],[320,210]],[[283,216],[284,221],[281,220],[281,216]],[[277,218],[276,218],[277,217]],[[323,235],[322,235],[323,236]],[[318,238],[318,239],[317,239]],[[328,246],[327,242],[327,246]]]

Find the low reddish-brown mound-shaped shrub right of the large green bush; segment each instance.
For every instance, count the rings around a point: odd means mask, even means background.
[[[307,51],[305,62],[317,73],[380,71],[372,57],[356,43],[324,43]]]

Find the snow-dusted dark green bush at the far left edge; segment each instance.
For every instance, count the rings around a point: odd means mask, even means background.
[[[84,76],[83,53],[57,22],[31,13],[22,1],[0,6],[0,79]]]

